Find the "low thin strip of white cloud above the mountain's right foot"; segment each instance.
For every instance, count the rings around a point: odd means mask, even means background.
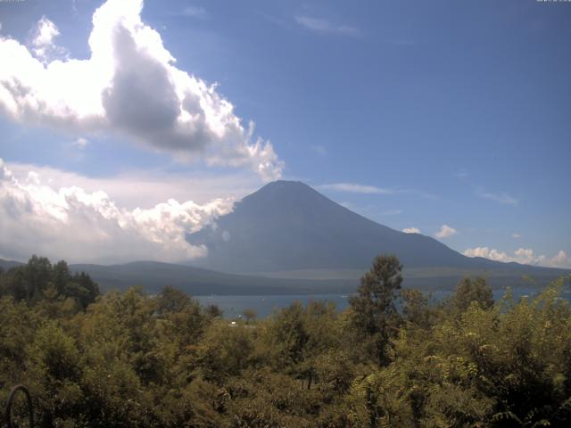
[[[560,250],[555,256],[548,257],[542,254],[535,254],[531,248],[518,248],[512,255],[506,252],[491,249],[489,247],[468,248],[463,251],[468,257],[483,257],[496,261],[515,261],[523,265],[545,266],[549,268],[571,268],[571,257],[567,252]]]

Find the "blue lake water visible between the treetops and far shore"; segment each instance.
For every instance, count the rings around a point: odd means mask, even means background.
[[[494,300],[499,300],[505,294],[505,289],[494,290]],[[513,289],[514,300],[521,297],[534,297],[540,289],[534,287],[519,287]],[[441,290],[432,292],[434,300],[441,300],[451,294],[449,290]],[[568,289],[563,292],[563,296],[567,300],[571,300],[571,294]],[[242,315],[244,309],[254,309],[259,318],[268,317],[275,309],[286,308],[294,301],[299,300],[306,305],[312,300],[327,300],[335,303],[337,309],[343,310],[349,304],[348,294],[290,294],[290,295],[256,295],[256,296],[194,296],[194,299],[200,301],[203,306],[218,305],[219,309],[224,311],[224,317],[236,318]]]

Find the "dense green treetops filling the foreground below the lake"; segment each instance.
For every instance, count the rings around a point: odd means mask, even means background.
[[[571,426],[563,280],[494,302],[465,278],[432,304],[381,256],[342,312],[232,324],[172,288],[98,295],[66,267],[0,275],[0,400],[28,385],[38,426]]]

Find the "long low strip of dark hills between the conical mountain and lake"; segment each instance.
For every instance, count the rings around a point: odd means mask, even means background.
[[[0,259],[0,267],[5,270],[18,266],[23,266],[23,263]],[[133,285],[142,285],[146,292],[154,293],[171,285],[193,295],[319,295],[354,292],[360,276],[367,269],[341,272],[324,269],[315,270],[312,275],[309,275],[309,271],[283,271],[262,274],[263,276],[245,276],[171,263],[135,261],[111,266],[72,264],[70,270],[86,272],[100,285],[102,291],[124,290]],[[528,275],[533,276],[534,284],[541,287],[569,273],[564,269],[538,268],[517,263],[501,263],[497,268],[405,268],[403,284],[423,290],[450,290],[462,276],[483,275],[493,288],[508,285],[529,287],[529,281],[522,277]]]

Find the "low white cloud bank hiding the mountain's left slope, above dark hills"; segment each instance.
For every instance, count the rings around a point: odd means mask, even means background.
[[[177,261],[207,255],[186,242],[193,233],[232,209],[231,200],[205,204],[170,199],[149,209],[120,208],[103,191],[56,188],[37,172],[18,179],[0,160],[0,257],[31,253],[70,261],[133,259]]]

